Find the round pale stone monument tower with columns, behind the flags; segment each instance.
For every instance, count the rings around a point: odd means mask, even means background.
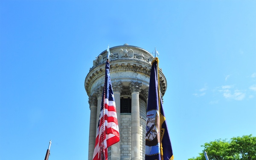
[[[145,126],[151,61],[150,52],[124,44],[110,48],[110,77],[116,102],[120,141],[108,148],[108,160],[145,160]],[[89,96],[90,131],[88,160],[93,159],[96,130],[105,80],[107,50],[93,60],[84,87]],[[167,81],[160,70],[160,91]]]

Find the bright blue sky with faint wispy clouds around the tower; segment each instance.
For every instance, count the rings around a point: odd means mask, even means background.
[[[87,160],[93,60],[129,44],[160,53],[175,160],[256,136],[255,0],[1,0],[0,159]]]

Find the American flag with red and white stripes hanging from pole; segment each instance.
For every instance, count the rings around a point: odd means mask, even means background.
[[[105,83],[102,94],[102,104],[96,134],[93,160],[108,160],[108,147],[118,143],[119,128],[116,115],[116,103],[114,100],[111,80],[110,65],[106,61]]]

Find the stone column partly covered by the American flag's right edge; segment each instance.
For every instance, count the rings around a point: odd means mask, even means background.
[[[121,81],[113,82],[112,88],[113,88],[114,98],[116,102],[116,114],[117,114],[119,133],[120,133],[120,93],[122,92]],[[120,160],[120,142],[111,146],[111,160]]]

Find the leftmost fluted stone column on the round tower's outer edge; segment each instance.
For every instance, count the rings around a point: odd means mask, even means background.
[[[89,129],[89,154],[88,160],[93,159],[93,151],[96,139],[96,113],[97,113],[97,101],[96,96],[89,97],[90,104],[90,129]]]

